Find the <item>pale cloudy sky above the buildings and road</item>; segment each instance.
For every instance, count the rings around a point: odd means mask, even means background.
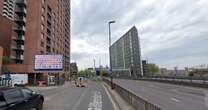
[[[136,26],[142,59],[161,68],[208,64],[208,0],[72,0],[71,62],[108,65],[112,42]]]

